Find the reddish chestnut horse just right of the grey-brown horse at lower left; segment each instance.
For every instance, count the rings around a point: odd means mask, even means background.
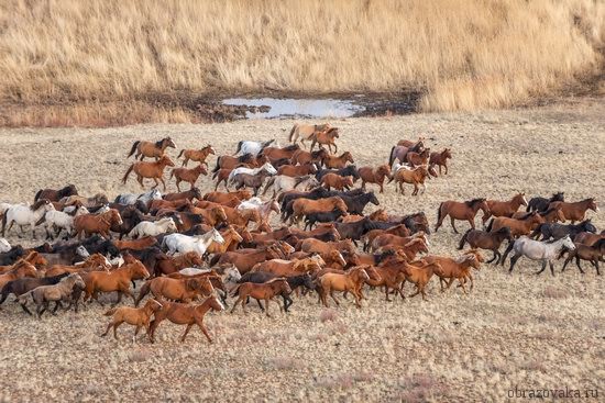
[[[118,301],[116,303],[120,303],[122,294],[130,295],[133,301],[136,301],[134,294],[130,291],[130,283],[132,280],[146,279],[148,277],[150,272],[141,261],[124,265],[110,272],[91,271],[82,273],[82,279],[86,283],[84,301],[87,301],[91,296],[97,300],[99,292],[113,291],[118,291]]]

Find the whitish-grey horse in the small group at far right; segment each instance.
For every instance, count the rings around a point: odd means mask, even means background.
[[[554,276],[553,261],[561,256],[561,253],[564,249],[575,249],[575,245],[569,235],[554,242],[534,240],[527,236],[520,236],[517,240],[515,240],[512,247],[509,246],[506,249],[503,261],[506,259],[506,255],[508,255],[510,249],[513,249],[514,255],[510,257],[510,269],[508,269],[508,272],[512,272],[517,260],[519,260],[521,256],[525,256],[531,260],[540,260],[542,262],[542,269],[536,275],[540,275],[546,270],[548,261],[550,265],[550,272]]]

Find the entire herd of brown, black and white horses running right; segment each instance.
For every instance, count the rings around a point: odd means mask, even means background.
[[[468,293],[473,270],[485,264],[481,250],[493,253],[486,264],[504,265],[510,256],[509,271],[525,256],[541,262],[538,273],[550,265],[554,275],[553,262],[563,257],[563,270],[575,260],[583,272],[585,260],[601,273],[605,232],[586,219],[587,211],[598,210],[594,199],[569,202],[561,192],[529,201],[524,193],[504,201],[443,201],[432,231],[447,217],[457,234],[457,221],[471,228],[460,239],[461,253],[435,255],[425,212],[389,214],[367,186],[383,193],[385,181],[395,181],[403,193],[409,183],[417,195],[425,180],[448,175],[451,150],[431,152],[424,138],[400,141],[388,164],[358,168],[350,152],[332,154],[338,138],[339,128],[330,124],[297,124],[289,133],[293,144],[285,147],[274,141],[239,142],[234,155],[216,157],[217,183],[207,193],[196,182],[208,175],[215,148],[183,149],[183,166],[170,172],[178,191],[165,194],[156,188],[166,189],[164,170],[175,166],[167,149],[176,145],[169,137],[141,141],[132,145],[129,157],[136,161],[123,181],[134,172],[143,188],[144,179],[154,181],[151,190],[110,202],[102,193],[80,195],[69,184],[40,190],[31,204],[0,203],[2,236],[14,224],[20,236],[25,227],[33,238],[38,228],[46,235],[32,248],[0,238],[0,304],[13,294],[24,312],[32,314],[33,304],[41,317],[50,309],[77,312],[80,302],[102,303],[103,294],[114,293],[114,305],[128,296],[133,306],[107,311],[111,321],[102,336],[113,328],[117,338],[117,328],[128,323],[135,326],[133,340],[145,329],[153,343],[158,325],[168,320],[186,326],[182,340],[198,326],[211,342],[205,314],[224,310],[230,298],[231,312],[240,306],[246,312],[255,300],[270,316],[271,302],[288,312],[294,298],[314,294],[324,306],[330,300],[340,304],[337,293],[342,293],[362,307],[367,288],[382,290],[386,301],[406,299],[407,283],[414,287],[409,296],[426,300],[433,278],[442,292],[457,281]],[[189,169],[189,161],[197,165]],[[182,191],[182,182],[189,189]],[[224,191],[218,190],[220,183]],[[273,195],[263,200],[270,190]],[[369,204],[377,210],[369,213]],[[480,211],[482,230],[475,227]],[[135,281],[143,282],[136,287]]]

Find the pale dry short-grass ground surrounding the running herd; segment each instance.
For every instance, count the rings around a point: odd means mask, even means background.
[[[453,148],[451,173],[431,180],[426,194],[413,198],[408,187],[402,197],[389,186],[380,195],[392,213],[424,210],[435,223],[443,200],[508,199],[517,191],[605,200],[603,100],[336,123],[340,148],[351,150],[359,166],[384,164],[394,143],[419,133],[435,149]],[[285,144],[292,124],[1,130],[0,199],[31,201],[37,189],[68,182],[81,194],[139,192],[132,178],[120,183],[135,139],[170,135],[179,148],[210,143],[232,154],[240,139]],[[201,188],[210,189],[208,178]],[[588,215],[605,227],[603,213]],[[14,234],[9,240],[19,242]],[[431,236],[431,253],[457,255],[458,240],[448,224]],[[594,401],[602,400],[603,278],[586,264],[583,276],[574,266],[561,273],[560,261],[556,277],[537,277],[538,266],[521,259],[513,276],[484,266],[470,295],[441,293],[433,280],[426,302],[385,303],[376,290],[362,310],[350,300],[326,310],[309,296],[274,318],[254,307],[248,315],[211,314],[213,345],[199,329],[180,344],[184,328],[169,323],[158,328],[155,345],[133,345],[127,326],[119,342],[100,338],[108,320],[97,304],[37,321],[6,303],[0,401],[506,401],[515,388],[598,389]]]

